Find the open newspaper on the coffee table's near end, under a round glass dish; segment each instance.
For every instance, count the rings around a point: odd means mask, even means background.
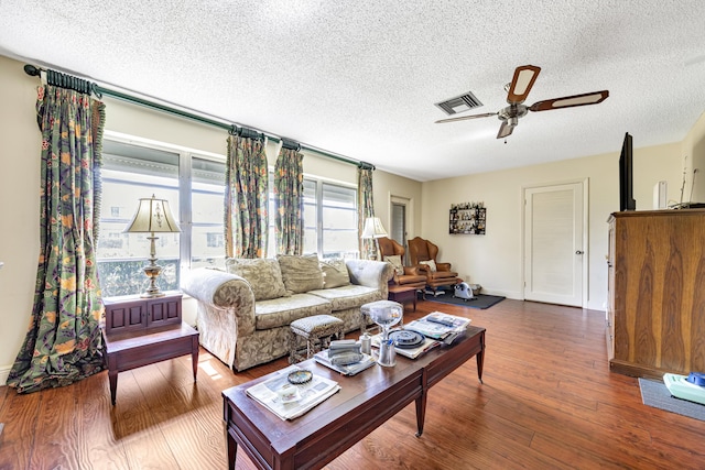
[[[292,384],[290,374],[305,374],[311,371],[290,365],[276,372],[276,375],[247,389],[247,394],[264,405],[280,418],[294,419],[340,390],[337,382],[312,373],[311,380]]]

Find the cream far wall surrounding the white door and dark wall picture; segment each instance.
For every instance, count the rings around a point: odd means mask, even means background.
[[[638,141],[634,141],[638,145]],[[438,179],[423,184],[422,237],[440,247],[440,260],[453,263],[464,280],[485,292],[523,298],[523,188],[588,179],[588,302],[603,309],[606,300],[607,218],[619,210],[618,160],[615,153],[565,160],[535,166]],[[653,185],[668,181],[680,188],[681,144],[634,149],[637,209],[652,209]],[[485,236],[448,234],[452,204],[484,201]]]

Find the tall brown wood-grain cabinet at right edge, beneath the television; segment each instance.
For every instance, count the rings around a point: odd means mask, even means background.
[[[705,210],[616,212],[609,225],[610,369],[705,371]]]

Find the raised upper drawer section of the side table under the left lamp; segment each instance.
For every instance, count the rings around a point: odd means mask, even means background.
[[[182,294],[153,298],[142,298],[139,295],[104,298],[106,335],[181,325],[181,298]]]

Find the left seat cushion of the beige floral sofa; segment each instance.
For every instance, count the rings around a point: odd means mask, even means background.
[[[294,294],[254,304],[254,328],[258,330],[285,327],[300,318],[329,315],[330,303],[310,294]]]

